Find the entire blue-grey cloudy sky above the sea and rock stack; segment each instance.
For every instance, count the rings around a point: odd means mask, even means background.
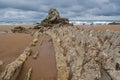
[[[43,19],[51,7],[70,19],[120,20],[120,0],[0,0],[0,19]]]

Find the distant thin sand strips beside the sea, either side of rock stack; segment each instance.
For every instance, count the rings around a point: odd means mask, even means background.
[[[11,29],[14,27],[24,27],[24,28],[33,28],[36,24],[0,24],[0,34],[4,33],[11,33]],[[85,27],[90,30],[120,30],[120,25],[73,25],[73,26],[80,26],[80,27]]]

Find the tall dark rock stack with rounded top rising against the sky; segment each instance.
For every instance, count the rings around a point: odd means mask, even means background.
[[[51,8],[48,12],[48,16],[37,24],[34,29],[40,29],[40,32],[46,31],[54,27],[60,27],[63,25],[71,25],[68,18],[61,18],[57,9]]]

